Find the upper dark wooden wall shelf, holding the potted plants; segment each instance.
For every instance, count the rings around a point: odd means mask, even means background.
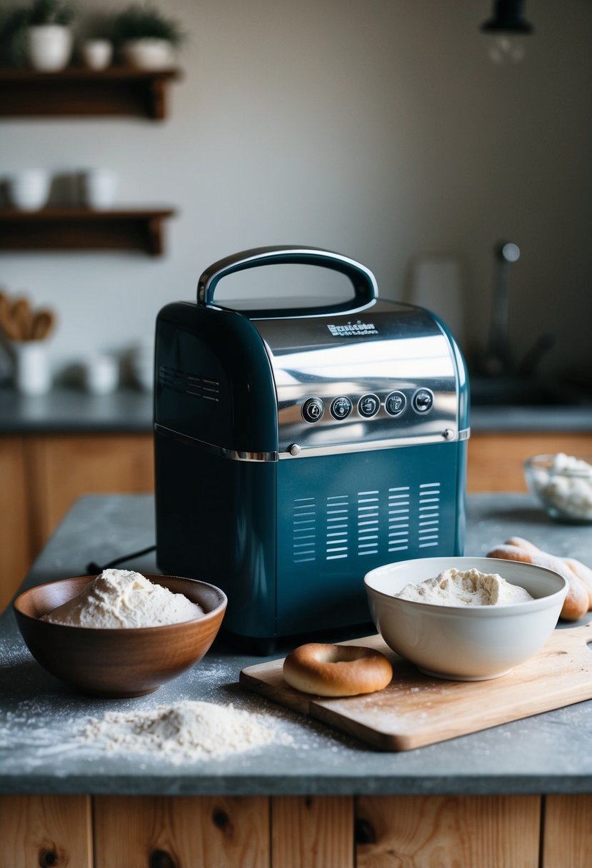
[[[167,85],[178,69],[147,71],[109,67],[96,72],[71,67],[60,72],[0,69],[0,118],[135,115],[162,121]]]

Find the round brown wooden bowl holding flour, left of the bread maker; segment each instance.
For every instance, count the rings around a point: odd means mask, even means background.
[[[95,576],[49,582],[23,591],[13,604],[16,623],[36,661],[50,674],[87,694],[142,696],[201,661],[218,633],[226,595],[214,585],[176,575],[147,575],[175,594],[199,603],[206,615],[164,627],[99,629],[41,621],[80,594]]]

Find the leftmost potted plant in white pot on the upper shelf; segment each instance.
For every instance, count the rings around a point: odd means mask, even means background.
[[[33,69],[56,72],[68,65],[72,54],[73,19],[74,11],[64,0],[32,0],[5,16],[3,41]]]

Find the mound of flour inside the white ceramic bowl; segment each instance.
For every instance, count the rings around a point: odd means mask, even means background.
[[[509,606],[533,599],[527,590],[511,585],[497,573],[454,568],[417,585],[405,585],[395,596],[437,606]]]

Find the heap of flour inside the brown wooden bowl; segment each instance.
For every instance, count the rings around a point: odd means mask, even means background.
[[[134,628],[193,621],[203,614],[197,603],[150,582],[141,573],[103,569],[78,596],[41,620],[69,627]]]

